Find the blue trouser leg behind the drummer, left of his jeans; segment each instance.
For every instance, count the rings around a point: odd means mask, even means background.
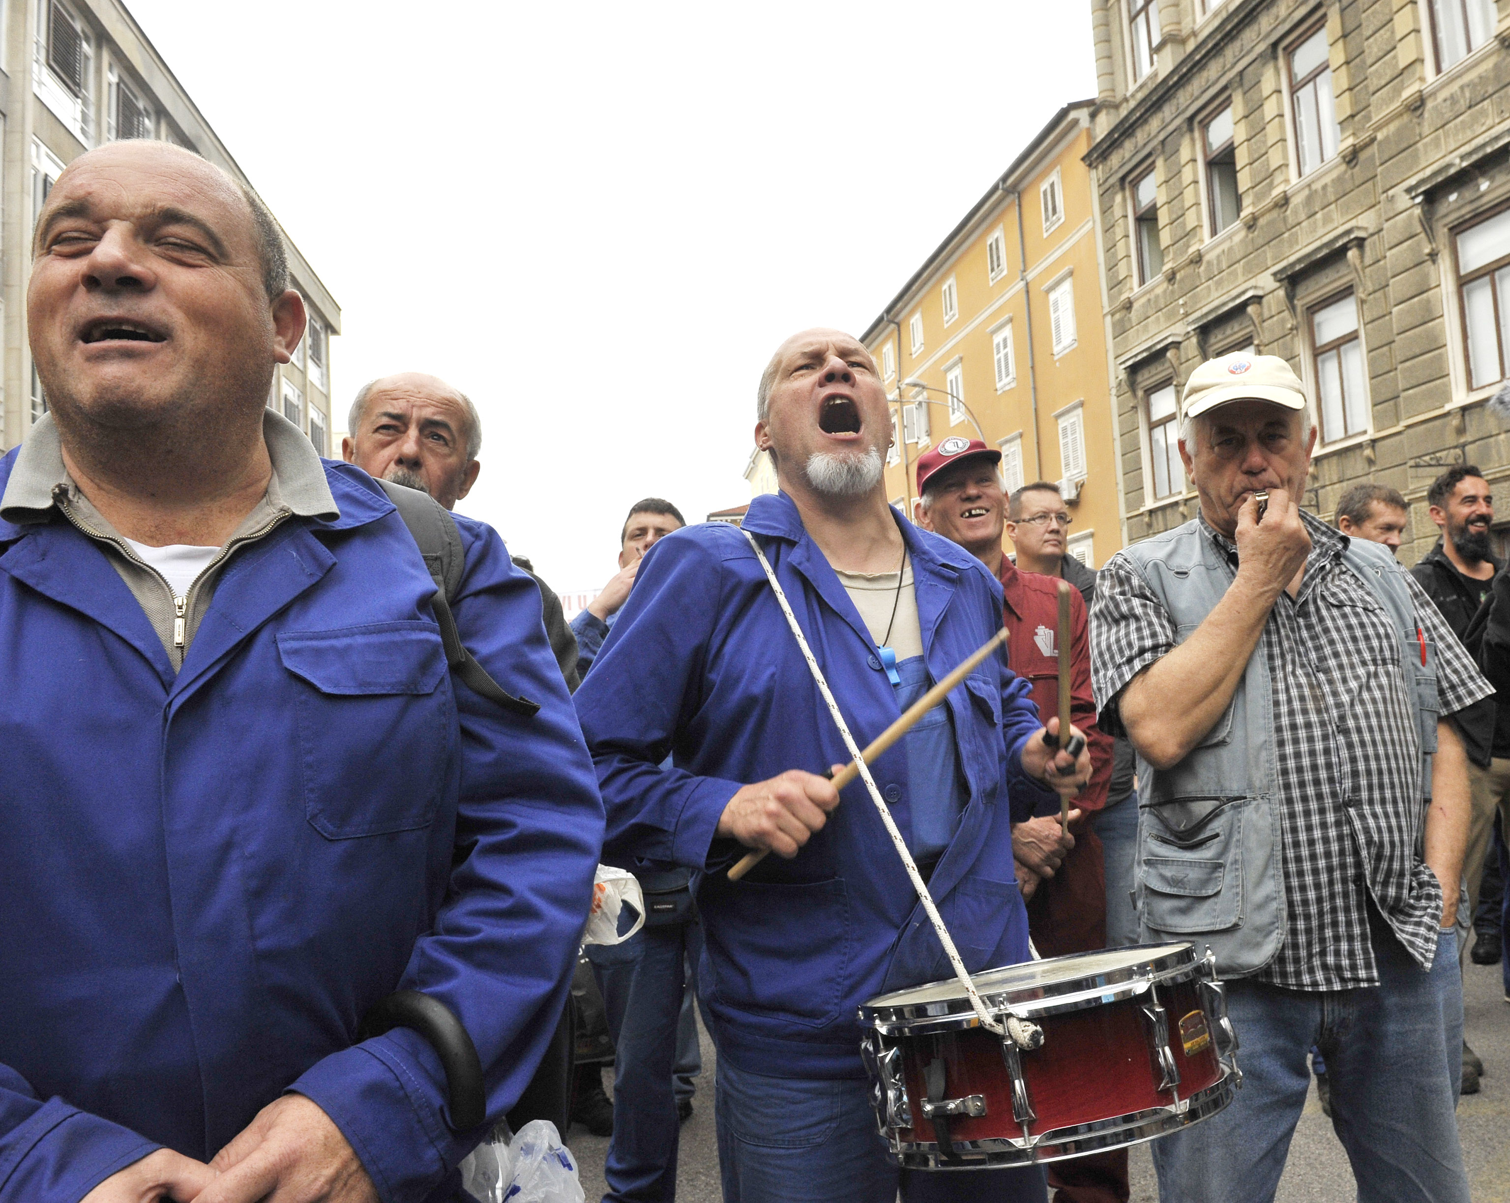
[[[613,1035],[613,1140],[602,1177],[606,1203],[670,1203],[676,1197],[673,1073],[687,1065],[678,1050],[686,1011],[684,964],[701,955],[702,928],[672,923],[642,928],[622,945],[589,945]],[[692,1032],[696,1047],[696,1026]],[[681,1052],[681,1055],[678,1055]],[[689,1093],[690,1094],[690,1093]]]

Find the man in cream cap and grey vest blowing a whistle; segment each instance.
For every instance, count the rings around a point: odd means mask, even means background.
[[[1315,1046],[1359,1198],[1468,1203],[1450,715],[1489,686],[1388,549],[1297,508],[1303,388],[1271,355],[1191,373],[1200,514],[1113,556],[1090,614],[1101,722],[1139,754],[1142,935],[1216,951],[1241,1040],[1235,1102],[1154,1165],[1164,1203],[1271,1200]]]

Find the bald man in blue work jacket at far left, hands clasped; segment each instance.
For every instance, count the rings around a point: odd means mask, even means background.
[[[27,295],[51,414],[0,459],[0,1200],[459,1197],[560,1016],[602,809],[541,626],[458,518],[453,683],[409,530],[264,408],[278,227],[189,151],[80,156]],[[538,703],[530,706],[518,698]]]

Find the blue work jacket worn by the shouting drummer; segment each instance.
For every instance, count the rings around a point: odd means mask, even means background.
[[[929,673],[944,677],[1001,627],[1001,585],[960,547],[897,514],[908,540]],[[757,497],[744,518],[770,559],[861,747],[898,716],[876,644],[793,502]],[[575,694],[609,813],[607,852],[707,871],[698,987],[719,1056],[753,1073],[856,1078],[856,1008],[883,990],[950,975],[948,961],[862,781],[794,860],[714,831],[740,786],[823,772],[849,751],[744,537],[722,523],[676,530],[645,556],[630,600]],[[1012,809],[1048,792],[1019,751],[1037,710],[994,656],[947,701],[969,803],[930,889],[975,972],[1028,958],[1012,866]],[[672,754],[673,768],[660,768]],[[871,772],[906,834],[904,742]]]

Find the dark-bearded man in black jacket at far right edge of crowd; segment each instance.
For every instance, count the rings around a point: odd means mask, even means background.
[[[1478,639],[1469,644],[1468,632],[1474,617],[1489,598],[1495,576],[1504,568],[1504,562],[1495,558],[1489,546],[1495,499],[1489,491],[1489,482],[1472,464],[1457,464],[1444,472],[1431,482],[1425,499],[1431,521],[1441,527],[1442,537],[1410,574],[1442,611],[1453,633],[1477,654]],[[1510,810],[1510,704],[1496,704],[1496,697],[1480,703],[1477,709],[1483,713],[1477,715],[1478,722],[1465,724],[1474,812],[1468,827],[1468,851],[1463,854],[1468,908],[1460,911],[1459,920],[1459,935],[1463,940],[1460,957],[1468,954],[1468,923],[1478,910],[1484,858],[1493,846],[1495,812]],[[1492,734],[1489,734],[1490,715]],[[1483,1061],[1465,1041],[1463,1094],[1478,1091],[1481,1075]]]

